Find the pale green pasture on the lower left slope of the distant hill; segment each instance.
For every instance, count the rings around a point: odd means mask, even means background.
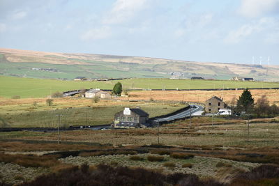
[[[3,55],[2,55],[3,56]],[[133,63],[109,63],[100,61],[86,61],[70,59],[72,61],[86,62],[89,65],[59,65],[50,63],[9,63],[1,62],[1,75],[31,77],[43,79],[74,79],[83,76],[92,79],[116,77],[166,78],[167,73],[152,72],[153,65],[137,65]],[[32,70],[32,68],[52,68],[59,72]]]

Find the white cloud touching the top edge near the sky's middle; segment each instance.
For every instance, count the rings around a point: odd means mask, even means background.
[[[104,17],[103,24],[128,22],[146,7],[146,0],[117,0],[112,10]]]

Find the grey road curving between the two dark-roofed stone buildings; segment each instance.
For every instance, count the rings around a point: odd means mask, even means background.
[[[201,114],[203,111],[204,107],[196,105],[196,104],[190,104],[190,109],[186,110],[186,111],[181,111],[178,114],[175,114],[173,116],[168,116],[166,118],[158,118],[155,119],[155,122],[163,122],[163,121],[173,121],[176,119],[181,119],[181,118],[187,118],[191,116],[197,116],[199,115],[199,113]]]

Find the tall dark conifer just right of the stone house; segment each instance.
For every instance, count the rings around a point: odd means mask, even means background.
[[[250,91],[248,90],[248,88],[246,88],[237,100],[236,110],[251,112],[253,107],[254,98],[252,98]]]

